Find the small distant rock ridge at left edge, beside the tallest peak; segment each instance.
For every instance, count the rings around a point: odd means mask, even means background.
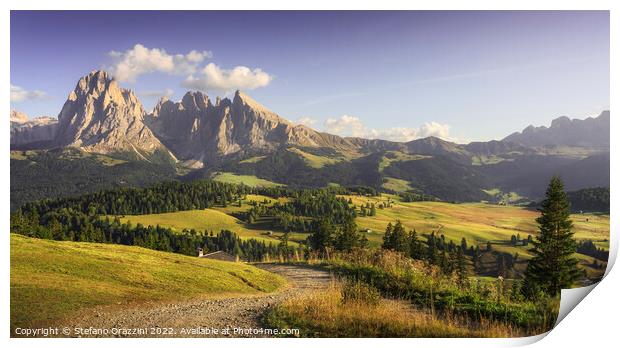
[[[50,142],[58,130],[58,121],[52,117],[30,120],[19,111],[11,111],[11,145]]]

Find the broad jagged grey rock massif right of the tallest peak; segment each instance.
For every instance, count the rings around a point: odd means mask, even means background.
[[[207,162],[283,145],[356,147],[344,138],[295,126],[239,91],[232,101],[218,98],[215,104],[201,92],[188,92],[177,103],[162,99],[148,123],[177,157]]]

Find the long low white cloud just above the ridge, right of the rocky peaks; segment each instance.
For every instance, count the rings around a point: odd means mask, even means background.
[[[427,122],[418,128],[394,127],[385,129],[369,128],[358,117],[343,115],[340,118],[328,118],[323,127],[326,132],[341,136],[368,139],[385,139],[392,141],[411,141],[419,138],[435,136],[451,140],[450,126],[438,122]]]

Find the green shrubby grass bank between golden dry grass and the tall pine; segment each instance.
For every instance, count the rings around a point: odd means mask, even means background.
[[[557,298],[526,300],[499,279],[461,283],[436,266],[393,251],[357,249],[308,263],[372,286],[383,297],[406,300],[432,318],[478,331],[496,323],[491,326],[514,328],[512,334],[536,335],[550,330],[557,318]]]

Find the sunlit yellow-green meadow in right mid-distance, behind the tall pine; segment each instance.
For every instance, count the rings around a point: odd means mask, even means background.
[[[367,237],[373,245],[382,242],[385,227],[397,219],[407,229],[415,229],[418,233],[435,231],[455,243],[460,243],[461,238],[465,237],[470,245],[486,243],[489,240],[507,242],[513,234],[520,234],[521,238],[527,238],[528,234],[537,234],[535,219],[539,214],[524,207],[484,203],[405,203],[391,195],[344,197],[351,198],[357,206],[367,202],[378,205],[387,202],[388,198],[391,199],[390,208],[377,209],[376,216],[356,219],[360,228],[371,230]],[[577,240],[592,239],[604,243],[609,239],[609,215],[573,214],[571,218]]]

